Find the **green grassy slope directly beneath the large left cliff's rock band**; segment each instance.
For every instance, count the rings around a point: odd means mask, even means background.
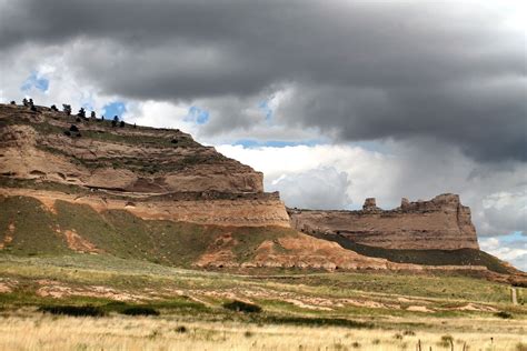
[[[38,200],[26,197],[0,197],[0,233],[8,233],[9,225],[14,225],[13,240],[6,242],[3,251],[18,255],[71,253],[63,234],[57,232],[59,229],[62,233],[74,231],[98,249],[119,258],[189,267],[227,232],[238,242],[232,249],[238,262],[250,260],[264,240],[296,234],[284,228],[226,228],[142,220],[125,210],[98,213],[89,205],[64,201],[57,201],[56,213],[51,213]]]

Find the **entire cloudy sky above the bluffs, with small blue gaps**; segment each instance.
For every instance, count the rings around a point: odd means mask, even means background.
[[[0,0],[0,101],[180,128],[290,207],[461,195],[527,270],[524,1]]]

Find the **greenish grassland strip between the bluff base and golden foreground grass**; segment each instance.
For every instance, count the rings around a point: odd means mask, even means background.
[[[207,271],[186,270],[155,264],[135,259],[111,255],[73,254],[63,257],[14,257],[0,253],[0,282],[16,280],[18,285],[10,293],[0,293],[0,311],[20,305],[86,304],[106,305],[105,297],[66,295],[57,300],[39,297],[39,280],[58,282],[62,287],[107,287],[115,291],[133,292],[146,298],[143,302],[167,310],[166,313],[206,312],[216,318],[229,319],[232,314],[221,304],[235,297],[251,300],[264,307],[262,318],[367,318],[377,317],[431,317],[488,315],[494,312],[450,311],[467,302],[493,305],[509,311],[516,319],[527,318],[525,307],[513,307],[509,288],[504,284],[467,277],[416,277],[389,273],[310,273],[278,277],[252,277]],[[169,291],[169,292],[167,292]],[[172,292],[170,292],[172,291]],[[180,291],[179,295],[173,291]],[[527,289],[519,289],[525,302]],[[210,294],[209,292],[212,292]],[[257,293],[257,294],[255,294]],[[400,297],[406,297],[404,301]],[[352,299],[377,301],[400,308],[370,308],[332,304],[330,310],[302,309],[288,299]],[[130,302],[129,302],[130,303]],[[137,303],[137,302],[136,302]],[[309,303],[309,302],[307,302]],[[311,302],[315,303],[315,302]],[[412,304],[425,303],[437,309],[435,313],[406,310]],[[182,311],[181,309],[187,309]],[[388,323],[391,323],[388,321]]]

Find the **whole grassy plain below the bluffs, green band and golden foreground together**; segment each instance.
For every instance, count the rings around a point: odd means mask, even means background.
[[[265,273],[265,274],[264,274]],[[210,272],[0,255],[0,350],[527,350],[526,289],[480,278]],[[231,310],[242,301],[260,312]],[[100,317],[49,311],[89,305]],[[127,315],[128,309],[156,315]],[[48,311],[48,312],[43,312]]]

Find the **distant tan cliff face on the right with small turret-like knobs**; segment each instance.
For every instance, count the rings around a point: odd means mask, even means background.
[[[459,195],[440,194],[429,201],[409,202],[384,211],[366,199],[360,211],[289,209],[291,225],[307,233],[332,233],[356,243],[385,249],[479,249],[470,209]]]

